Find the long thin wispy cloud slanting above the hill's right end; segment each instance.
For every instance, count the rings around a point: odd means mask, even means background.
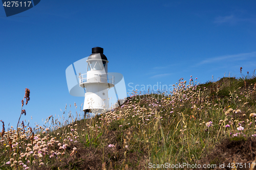
[[[203,64],[216,63],[216,62],[223,62],[225,60],[227,60],[227,62],[228,62],[228,60],[232,60],[232,61],[248,60],[248,58],[252,58],[252,57],[253,58],[256,57],[256,52],[218,56],[218,57],[214,57],[214,58],[209,58],[209,59],[203,60],[200,63],[198,63],[197,66],[203,65]]]

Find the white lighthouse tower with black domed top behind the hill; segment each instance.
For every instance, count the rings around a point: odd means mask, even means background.
[[[108,90],[114,87],[115,77],[108,74],[108,59],[103,48],[92,48],[87,61],[87,74],[79,74],[79,86],[86,88],[83,111],[102,113],[109,110]]]

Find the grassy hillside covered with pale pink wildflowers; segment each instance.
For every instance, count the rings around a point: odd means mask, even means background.
[[[0,169],[248,168],[256,162],[255,112],[254,75],[181,79],[173,91],[134,91],[121,107],[69,125],[50,116],[49,127],[18,123],[5,131],[1,121]]]

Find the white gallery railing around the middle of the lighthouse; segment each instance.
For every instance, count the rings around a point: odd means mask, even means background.
[[[90,82],[94,83],[105,83],[115,84],[115,76],[110,74],[105,74],[107,77],[101,77],[101,74],[94,74],[94,77],[90,79]],[[93,79],[93,80],[92,80]],[[89,83],[87,79],[87,74],[79,75],[79,84]]]

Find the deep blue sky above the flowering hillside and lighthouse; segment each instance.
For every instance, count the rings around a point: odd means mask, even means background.
[[[201,83],[239,77],[240,67],[252,74],[255,7],[256,1],[45,0],[10,17],[0,7],[0,119],[16,127],[25,88],[31,94],[21,120],[30,126],[61,117],[66,104],[79,114],[83,98],[69,94],[65,71],[95,46],[104,48],[109,72],[123,75],[127,92],[190,76]]]

